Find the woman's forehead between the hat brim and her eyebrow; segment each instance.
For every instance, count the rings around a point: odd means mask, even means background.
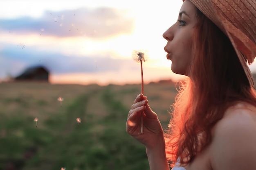
[[[196,7],[195,5],[190,2],[189,0],[184,0],[179,15],[187,15],[190,18],[194,18],[196,14]]]

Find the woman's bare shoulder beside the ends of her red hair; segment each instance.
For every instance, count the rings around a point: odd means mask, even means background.
[[[256,107],[240,103],[227,109],[210,147],[213,170],[256,169]]]

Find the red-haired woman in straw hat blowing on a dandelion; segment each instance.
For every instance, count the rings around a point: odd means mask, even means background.
[[[256,1],[184,0],[163,37],[171,70],[188,78],[166,133],[146,96],[128,113],[126,131],[146,146],[150,170],[256,170],[256,92],[246,63],[256,57]]]

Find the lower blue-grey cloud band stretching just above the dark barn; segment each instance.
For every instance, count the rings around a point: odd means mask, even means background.
[[[112,59],[111,56],[68,57],[59,53],[38,51],[26,48],[8,47],[0,53],[0,76],[20,74],[25,68],[43,65],[52,74],[119,72],[122,69],[134,70],[137,67],[132,59]]]

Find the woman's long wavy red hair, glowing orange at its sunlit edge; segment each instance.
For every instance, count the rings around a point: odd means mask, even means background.
[[[190,163],[209,145],[211,129],[228,107],[239,101],[256,106],[256,92],[229,38],[199,10],[197,19],[189,78],[179,84],[165,133],[171,166],[178,157]]]

